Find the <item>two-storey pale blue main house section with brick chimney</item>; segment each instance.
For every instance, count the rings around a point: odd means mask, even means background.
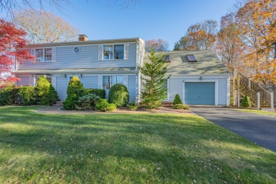
[[[16,65],[18,86],[35,86],[45,75],[56,88],[59,98],[67,97],[67,86],[72,76],[79,76],[84,88],[104,88],[125,84],[130,102],[137,102],[140,74],[137,66],[144,57],[144,41],[140,38],[115,40],[87,40],[79,35],[76,42],[55,42],[28,45],[37,62]]]

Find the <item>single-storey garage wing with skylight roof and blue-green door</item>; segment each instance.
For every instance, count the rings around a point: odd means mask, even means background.
[[[157,53],[158,54],[158,53]],[[188,105],[229,105],[231,72],[210,50],[160,52],[168,63],[168,98]],[[148,61],[144,54],[144,62]]]

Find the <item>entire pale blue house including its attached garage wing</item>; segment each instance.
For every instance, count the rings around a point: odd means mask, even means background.
[[[113,84],[125,84],[130,102],[139,102],[142,88],[139,66],[148,61],[141,38],[87,40],[79,35],[76,42],[28,45],[38,62],[16,64],[18,86],[35,86],[45,75],[56,88],[59,98],[67,97],[72,76],[79,76],[84,88],[104,88],[108,94]],[[186,104],[229,105],[230,72],[217,56],[205,51],[163,52],[168,62],[168,98],[176,93]]]

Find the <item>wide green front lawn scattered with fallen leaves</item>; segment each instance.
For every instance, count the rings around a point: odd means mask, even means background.
[[[195,115],[0,107],[0,183],[276,183],[276,153]]]

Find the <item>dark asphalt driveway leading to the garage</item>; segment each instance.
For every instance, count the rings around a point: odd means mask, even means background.
[[[217,106],[190,106],[200,115],[261,146],[276,151],[276,117],[246,113]]]

